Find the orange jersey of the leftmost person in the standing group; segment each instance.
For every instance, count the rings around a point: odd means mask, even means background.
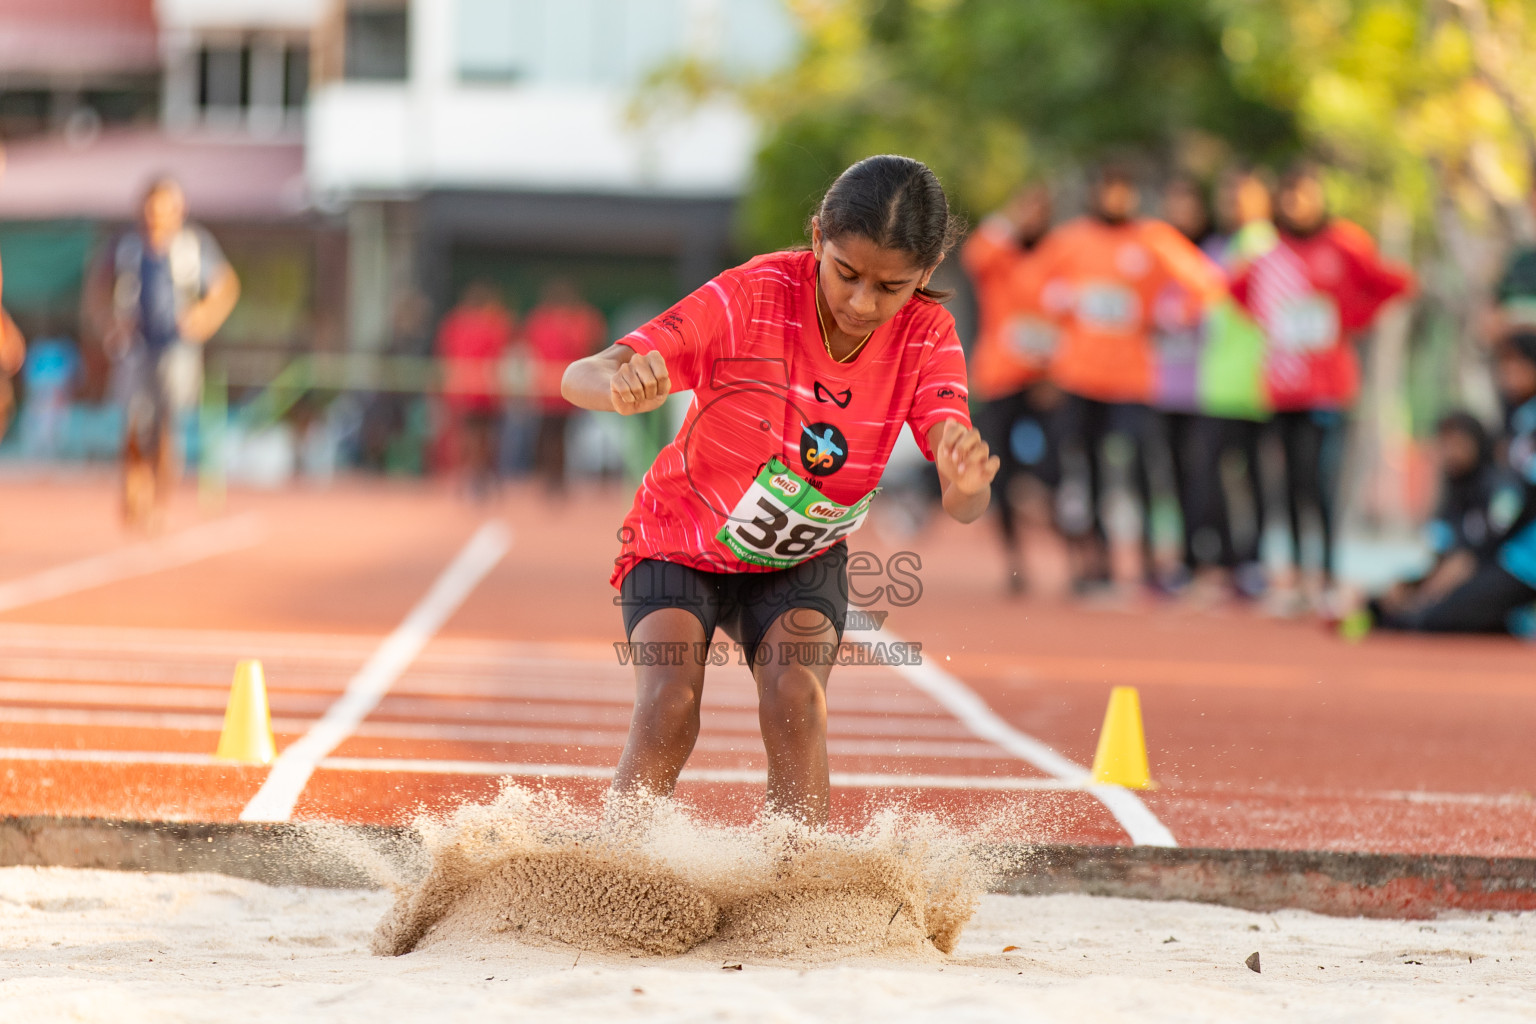
[[[1034,250],[1021,247],[1009,226],[983,223],[966,239],[960,261],[975,287],[975,347],[971,381],[978,398],[1012,395],[1046,375],[1060,329],[1040,309]]]

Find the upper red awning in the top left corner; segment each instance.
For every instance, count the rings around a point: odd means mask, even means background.
[[[0,72],[158,71],[155,0],[0,0]]]

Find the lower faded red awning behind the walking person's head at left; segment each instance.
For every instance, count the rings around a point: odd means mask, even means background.
[[[304,146],[227,135],[109,130],[78,146],[49,135],[11,143],[0,169],[0,220],[121,221],[160,175],[181,183],[200,221],[292,220],[307,209]]]

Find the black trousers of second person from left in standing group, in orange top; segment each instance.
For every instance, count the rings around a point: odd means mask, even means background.
[[[1141,504],[1141,571],[1155,574],[1152,537],[1152,473],[1149,454],[1161,438],[1161,416],[1134,402],[1100,402],[1066,395],[1057,416],[1057,436],[1063,450],[1074,450],[1084,473],[1086,508],[1083,522],[1063,524],[1063,533],[1083,548],[1087,568],[1080,582],[1107,582],[1112,577],[1109,531],[1104,528],[1104,442],[1120,434],[1130,445],[1130,485]]]

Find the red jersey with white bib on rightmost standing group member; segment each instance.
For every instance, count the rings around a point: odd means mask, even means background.
[[[1247,264],[1232,295],[1264,329],[1264,387],[1276,410],[1346,408],[1359,395],[1355,333],[1413,287],[1407,269],[1381,261],[1361,227],[1330,221]]]

